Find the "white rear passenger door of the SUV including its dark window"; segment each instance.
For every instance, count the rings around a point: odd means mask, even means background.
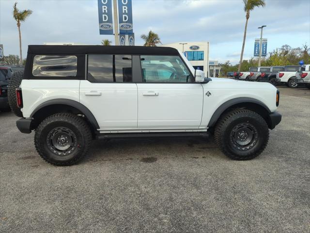
[[[87,79],[80,82],[80,102],[104,131],[137,129],[137,85],[132,56],[87,55]]]

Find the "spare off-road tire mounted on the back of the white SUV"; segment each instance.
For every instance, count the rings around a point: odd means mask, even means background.
[[[16,71],[13,73],[12,77],[9,79],[8,84],[8,100],[12,112],[19,117],[23,117],[23,113],[20,108],[17,107],[16,102],[16,92],[15,89],[19,87],[21,80],[23,79],[24,73],[22,71]]]

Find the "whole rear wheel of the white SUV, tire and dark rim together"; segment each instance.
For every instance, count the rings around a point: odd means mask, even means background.
[[[92,140],[87,122],[80,116],[58,113],[48,116],[34,134],[39,155],[55,166],[78,163],[85,157]]]

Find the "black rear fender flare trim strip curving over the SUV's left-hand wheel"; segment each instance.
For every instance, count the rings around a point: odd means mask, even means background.
[[[35,113],[37,113],[40,109],[47,107],[49,105],[54,105],[54,104],[62,104],[62,105],[69,105],[71,107],[74,107],[81,111],[86,118],[89,120],[89,122],[92,124],[94,129],[99,129],[98,122],[96,118],[93,116],[92,112],[85,107],[83,104],[79,103],[78,101],[75,100],[69,100],[69,99],[55,99],[55,100],[47,100],[44,103],[41,103],[38,105],[33,112],[31,113],[30,117],[33,117]]]

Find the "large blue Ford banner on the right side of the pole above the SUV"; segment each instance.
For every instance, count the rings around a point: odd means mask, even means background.
[[[120,34],[133,33],[131,0],[118,0],[118,20]]]

